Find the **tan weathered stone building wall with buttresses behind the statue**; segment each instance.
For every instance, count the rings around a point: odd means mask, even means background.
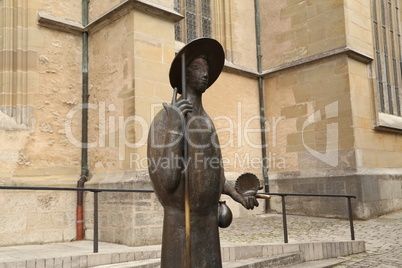
[[[89,21],[123,2],[90,1]],[[174,4],[141,2],[162,13]],[[373,130],[377,123],[388,128],[400,120],[375,116],[369,2],[260,1],[271,191],[356,193],[360,218],[402,208],[402,139]],[[262,178],[254,7],[240,0],[212,6],[213,37],[225,48],[227,66],[206,92],[205,108],[218,130],[227,177],[235,180],[248,171]],[[145,138],[161,104],[171,100],[170,62],[183,44],[174,40],[172,18],[148,11],[131,6],[117,19],[91,28],[88,187],[151,189]],[[44,27],[38,24],[38,12],[79,30]],[[0,40],[0,185],[75,187],[81,168],[81,2],[3,1],[0,13],[10,15],[0,22],[6,37]],[[84,196],[91,237],[93,194]],[[105,239],[128,237],[123,233],[133,230],[126,225],[145,223],[135,215],[154,223],[155,230],[141,243],[158,235],[162,207],[152,194],[101,193],[100,200]],[[4,245],[75,237],[75,193],[1,191],[0,201],[5,204],[0,207],[7,225],[3,230],[13,234],[12,241],[1,237]],[[342,214],[335,199],[300,202],[290,209]],[[275,199],[272,204],[279,208]],[[237,216],[262,212],[261,207],[244,213],[237,204],[230,206]],[[19,226],[11,230],[14,220]],[[45,220],[54,228],[49,233]],[[116,231],[120,223],[124,232]]]

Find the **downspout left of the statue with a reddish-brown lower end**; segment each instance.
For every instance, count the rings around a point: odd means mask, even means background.
[[[82,25],[88,25],[88,4],[82,0]],[[81,136],[81,175],[77,188],[84,188],[89,176],[88,169],[88,32],[82,33],[82,136]],[[84,239],[84,192],[77,191],[76,240]]]

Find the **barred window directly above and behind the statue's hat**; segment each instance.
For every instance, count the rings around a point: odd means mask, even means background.
[[[185,19],[175,25],[175,39],[188,43],[198,37],[211,37],[211,0],[175,0],[177,12]]]

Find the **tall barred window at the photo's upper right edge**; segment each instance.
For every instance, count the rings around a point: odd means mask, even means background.
[[[380,112],[401,116],[400,0],[372,0]]]

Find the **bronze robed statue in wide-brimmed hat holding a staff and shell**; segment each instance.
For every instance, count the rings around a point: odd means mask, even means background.
[[[187,44],[171,65],[172,102],[163,104],[149,131],[149,175],[164,207],[162,268],[222,267],[221,194],[247,209],[258,206],[255,195],[240,194],[225,179],[216,130],[202,105],[202,94],[223,65],[224,52],[216,40]],[[226,213],[227,208],[219,211]]]

